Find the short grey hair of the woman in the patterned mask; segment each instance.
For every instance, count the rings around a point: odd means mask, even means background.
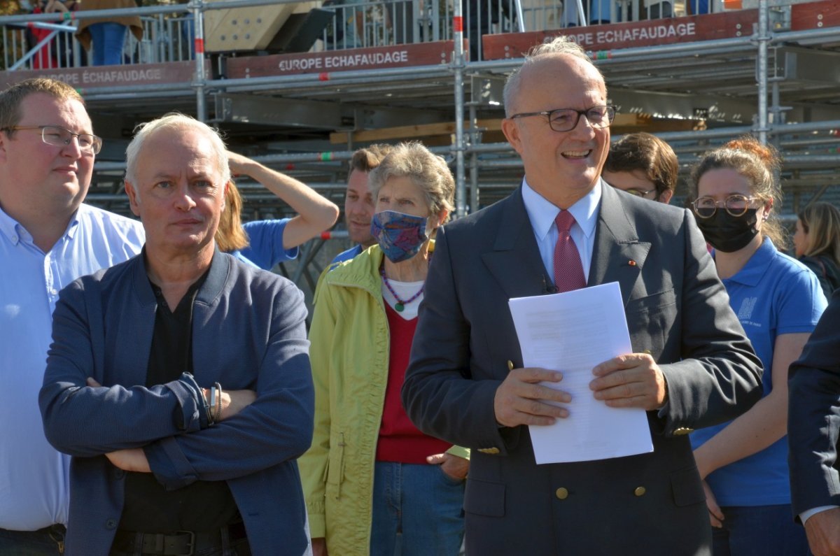
[[[374,203],[382,186],[392,177],[410,178],[423,189],[429,212],[438,216],[445,209],[449,219],[454,208],[455,180],[443,156],[434,155],[419,141],[396,145],[368,176]]]

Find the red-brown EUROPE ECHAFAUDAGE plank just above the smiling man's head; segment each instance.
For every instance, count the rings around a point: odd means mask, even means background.
[[[486,34],[481,38],[482,52],[485,60],[519,58],[532,46],[542,44],[545,39],[564,34],[585,50],[595,52],[597,60],[609,58],[610,50],[622,48],[749,36],[753,34],[753,24],[758,20],[758,10],[739,10],[552,31]]]

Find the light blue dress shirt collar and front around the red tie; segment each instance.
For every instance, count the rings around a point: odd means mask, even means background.
[[[528,212],[528,218],[531,220],[533,235],[537,239],[539,255],[543,258],[545,270],[554,280],[554,245],[557,244],[558,236],[554,219],[557,218],[560,209],[537,191],[533,191],[525,180],[522,180],[522,201],[525,202],[525,212]],[[589,281],[592,250],[595,248],[595,224],[598,221],[600,203],[601,181],[599,180],[592,191],[569,207],[569,212],[575,217],[575,223],[572,224],[569,234],[575,240],[586,281]]]

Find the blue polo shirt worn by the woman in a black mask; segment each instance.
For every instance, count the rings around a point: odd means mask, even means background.
[[[764,395],[773,389],[773,348],[781,334],[811,333],[826,308],[811,270],[765,238],[759,250],[731,278],[723,280],[729,305],[764,365]],[[729,422],[691,433],[697,448]],[[720,506],[790,504],[787,437],[706,477]]]

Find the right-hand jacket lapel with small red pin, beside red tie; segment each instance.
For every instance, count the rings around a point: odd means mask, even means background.
[[[606,185],[601,185],[601,193],[587,286],[618,282],[626,305],[648,257],[650,244],[638,240],[635,222],[618,193]]]

